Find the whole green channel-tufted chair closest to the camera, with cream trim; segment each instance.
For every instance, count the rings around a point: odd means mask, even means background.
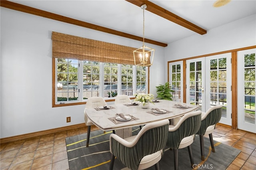
[[[159,170],[158,162],[166,146],[168,125],[167,119],[149,123],[137,135],[124,139],[110,134],[110,170],[113,169],[115,156],[132,170],[142,170],[153,165]]]

